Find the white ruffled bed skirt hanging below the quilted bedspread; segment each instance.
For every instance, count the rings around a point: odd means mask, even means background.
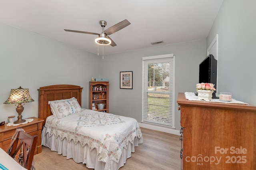
[[[97,150],[95,148],[90,150],[88,144],[82,146],[80,142],[75,144],[73,140],[70,140],[70,142],[68,142],[66,138],[61,140],[60,136],[56,138],[54,134],[49,136],[49,133],[46,133],[45,127],[42,130],[42,145],[50,148],[52,151],[58,152],[58,154],[66,156],[67,159],[72,158],[76,163],[86,164],[87,168],[106,170],[106,162],[98,161]],[[134,138],[133,143],[129,142],[126,149],[123,148],[122,156],[118,163],[113,160],[108,162],[110,163],[109,170],[118,170],[120,167],[124,166],[126,159],[130,158],[132,156],[132,152],[135,151],[135,146],[138,146],[138,140],[136,137]]]

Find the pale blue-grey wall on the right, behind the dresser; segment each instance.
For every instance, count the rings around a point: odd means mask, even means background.
[[[218,91],[256,105],[256,1],[224,0],[207,38],[219,39]]]

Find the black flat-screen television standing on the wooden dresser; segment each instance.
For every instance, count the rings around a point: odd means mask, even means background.
[[[217,89],[217,60],[212,54],[208,55],[199,64],[199,83],[213,83],[214,88]],[[214,91],[213,98],[215,98]]]

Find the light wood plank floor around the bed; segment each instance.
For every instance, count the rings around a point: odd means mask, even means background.
[[[119,170],[180,170],[179,136],[141,128],[143,144],[135,147],[132,157]],[[66,156],[42,146],[42,153],[34,156],[36,170],[92,170]]]

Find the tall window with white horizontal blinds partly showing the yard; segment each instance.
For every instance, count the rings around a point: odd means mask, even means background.
[[[142,60],[142,122],[174,127],[174,56]]]

